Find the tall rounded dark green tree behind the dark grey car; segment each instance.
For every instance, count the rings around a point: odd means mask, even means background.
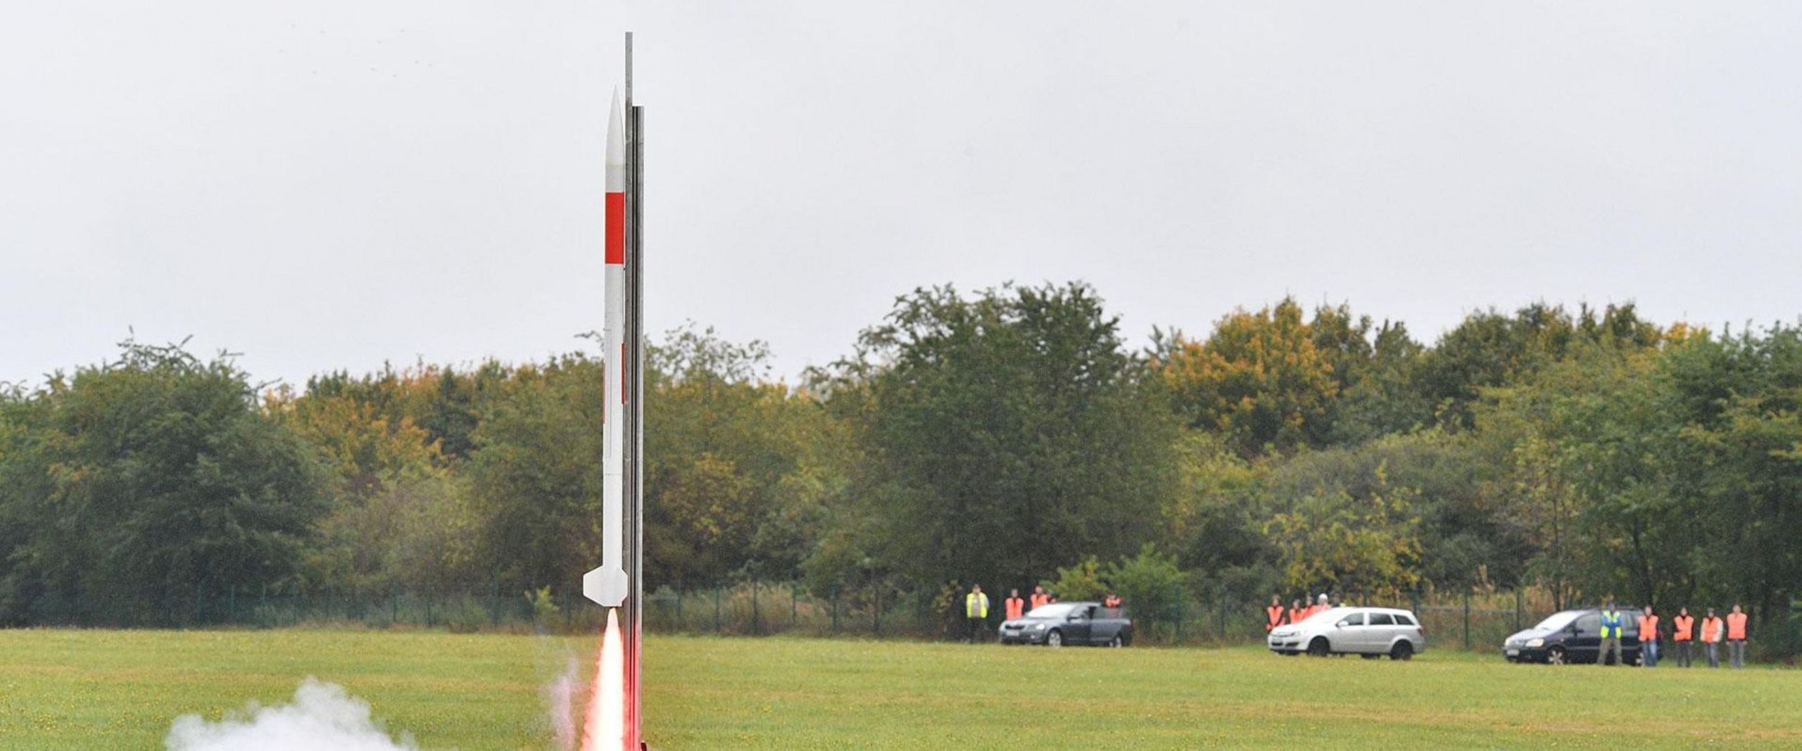
[[[858,430],[878,566],[1034,582],[1155,533],[1177,425],[1085,285],[901,297],[816,389]]]

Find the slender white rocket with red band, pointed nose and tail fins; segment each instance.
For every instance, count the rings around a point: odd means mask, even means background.
[[[600,326],[602,358],[607,367],[604,438],[600,450],[600,567],[582,575],[582,594],[605,607],[620,607],[631,582],[625,576],[625,117],[620,92],[613,92],[607,117],[607,211],[602,295],[605,313]]]

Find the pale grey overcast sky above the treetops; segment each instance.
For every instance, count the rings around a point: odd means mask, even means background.
[[[5,2],[0,380],[578,348],[625,29],[649,326],[784,376],[939,283],[1087,279],[1135,342],[1802,312],[1793,2]]]

